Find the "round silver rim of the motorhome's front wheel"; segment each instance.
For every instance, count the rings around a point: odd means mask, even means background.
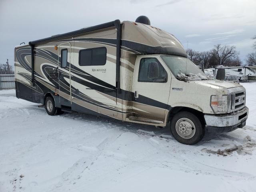
[[[176,122],[176,132],[184,139],[190,139],[196,132],[196,126],[188,118],[180,118]]]

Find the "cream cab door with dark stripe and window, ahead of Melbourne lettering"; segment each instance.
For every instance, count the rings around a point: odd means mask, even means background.
[[[134,115],[164,120],[171,84],[168,68],[157,57],[139,56],[132,84]]]

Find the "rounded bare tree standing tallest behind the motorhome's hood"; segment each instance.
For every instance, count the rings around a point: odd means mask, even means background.
[[[236,59],[238,57],[236,47],[229,45],[215,45],[212,53],[216,56],[219,65],[225,65],[227,59]]]

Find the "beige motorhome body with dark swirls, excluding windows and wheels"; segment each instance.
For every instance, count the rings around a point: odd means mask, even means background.
[[[161,55],[186,57],[186,51],[172,34],[154,26],[130,21],[124,21],[120,26],[120,86],[117,86],[116,81],[118,30],[112,26],[32,44],[34,69],[31,44],[17,46],[15,48],[17,97],[44,104],[46,96],[51,95],[59,108],[67,106],[70,110],[155,126],[166,126],[172,112],[186,108],[203,114],[206,126],[212,126],[214,118],[219,120],[220,115],[215,114],[210,106],[211,96],[228,95],[230,97],[228,113],[217,127],[221,127],[224,122],[232,126],[247,118],[245,89],[241,85],[219,80],[185,82],[174,76]],[[81,50],[102,47],[106,48],[104,65],[79,64]],[[62,68],[61,51],[65,49],[68,67]],[[158,60],[167,72],[166,82],[138,81],[140,61],[145,58]],[[32,71],[34,71],[34,83],[31,81]],[[52,74],[55,74],[53,78]],[[239,108],[232,108],[235,104],[231,103],[231,97],[236,93],[242,93],[239,97],[243,102]],[[242,119],[234,120],[229,124],[230,118],[238,118],[232,114],[236,111],[238,116],[245,112],[247,114]]]

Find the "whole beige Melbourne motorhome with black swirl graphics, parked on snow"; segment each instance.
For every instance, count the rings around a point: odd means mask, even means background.
[[[186,78],[191,74],[197,80]],[[203,79],[182,44],[145,16],[15,47],[17,98],[43,104],[49,115],[78,111],[153,126],[170,122],[183,144],[196,144],[206,130],[242,128],[248,117],[243,86]]]

